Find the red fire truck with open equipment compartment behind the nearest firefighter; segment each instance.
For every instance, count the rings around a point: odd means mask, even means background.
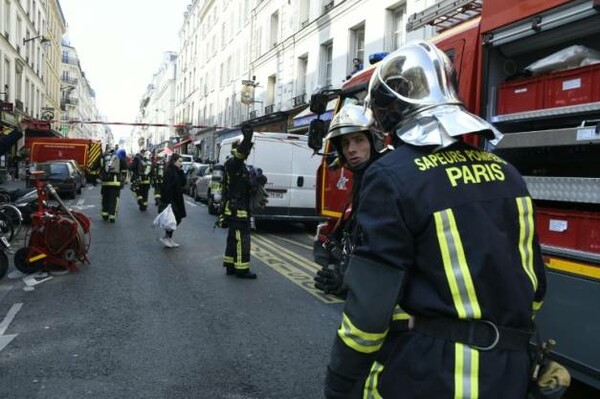
[[[557,342],[551,356],[576,379],[600,388],[600,1],[442,0],[412,15],[407,31],[426,26],[454,62],[466,107],[504,133],[495,148],[471,143],[515,165],[536,203],[548,276],[541,339]],[[574,46],[592,56],[567,56]],[[337,109],[364,99],[372,72],[346,82]],[[351,174],[327,165],[324,157],[318,206],[335,220]],[[332,225],[320,226],[321,239]]]

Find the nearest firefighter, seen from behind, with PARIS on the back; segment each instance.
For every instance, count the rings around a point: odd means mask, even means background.
[[[419,42],[371,78],[369,106],[401,144],[363,179],[327,398],[527,395],[546,287],[532,200],[513,166],[461,141],[502,135],[464,110],[453,77],[446,55]],[[411,314],[410,331],[373,363],[396,305]],[[357,384],[369,370],[376,377]]]

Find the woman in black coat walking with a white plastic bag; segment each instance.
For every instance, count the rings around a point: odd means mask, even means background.
[[[185,203],[183,202],[183,186],[185,185],[185,175],[183,170],[183,159],[179,154],[171,155],[169,163],[165,169],[164,182],[160,190],[160,206],[158,213],[161,213],[167,205],[171,204],[171,209],[175,215],[177,226],[181,219],[186,217]],[[167,248],[177,248],[179,244],[173,241],[173,230],[165,230],[165,236],[159,241]]]

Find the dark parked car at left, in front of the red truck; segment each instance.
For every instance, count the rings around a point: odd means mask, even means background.
[[[37,162],[31,165],[30,170],[44,172],[40,179],[52,184],[61,197],[75,198],[81,193],[80,172],[70,161]]]

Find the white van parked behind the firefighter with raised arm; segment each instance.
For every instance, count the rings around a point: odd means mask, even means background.
[[[221,142],[219,164],[231,156],[232,143],[242,136]],[[246,165],[260,168],[267,177],[269,203],[256,220],[314,222],[322,220],[316,211],[316,177],[321,157],[313,156],[308,137],[298,134],[255,132]]]

